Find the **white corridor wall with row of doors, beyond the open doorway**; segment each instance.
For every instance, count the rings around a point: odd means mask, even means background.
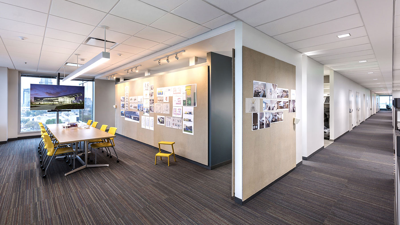
[[[335,71],[330,71],[330,116],[331,116],[331,124],[330,124],[330,139],[338,138],[340,135],[344,134],[346,131],[349,131],[350,125],[350,113],[349,113],[349,90],[352,91],[352,108],[353,112],[351,113],[351,118],[353,121],[353,127],[357,124],[357,105],[356,105],[356,92],[360,93],[361,102],[363,102],[363,95],[365,94],[365,98],[368,100],[368,104],[371,105],[371,91],[360,84],[346,78],[342,74],[339,74]],[[333,82],[332,82],[333,80]],[[332,98],[333,96],[333,98]],[[333,102],[333,106],[332,106]],[[369,107],[371,108],[371,107]],[[361,105],[361,118],[365,111],[365,107]],[[333,113],[332,113],[333,111]],[[366,118],[370,117],[371,111],[367,110]],[[333,123],[332,123],[333,119]]]

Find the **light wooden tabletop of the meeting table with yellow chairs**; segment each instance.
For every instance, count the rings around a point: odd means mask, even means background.
[[[60,144],[115,137],[115,135],[94,127],[90,127],[87,129],[79,127],[72,129],[62,129],[62,125],[63,123],[46,125]]]

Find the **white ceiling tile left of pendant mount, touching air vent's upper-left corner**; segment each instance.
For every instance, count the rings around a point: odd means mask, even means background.
[[[92,32],[94,26],[84,24],[81,22],[76,22],[73,20],[68,20],[58,16],[49,15],[49,20],[47,23],[48,28],[54,28],[57,30],[63,30],[75,34],[82,34],[87,36]]]

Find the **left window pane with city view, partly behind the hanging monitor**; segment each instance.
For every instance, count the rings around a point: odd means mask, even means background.
[[[57,85],[57,79],[54,76],[21,75],[20,132],[40,131],[38,122],[44,124],[56,123],[56,112],[47,112],[47,110],[30,110],[30,84]]]

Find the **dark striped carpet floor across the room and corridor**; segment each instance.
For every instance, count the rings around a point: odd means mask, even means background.
[[[394,224],[391,112],[378,112],[244,206],[212,171],[118,136],[120,163],[42,179],[38,139],[0,145],[0,224]],[[102,154],[102,155],[101,155]]]

